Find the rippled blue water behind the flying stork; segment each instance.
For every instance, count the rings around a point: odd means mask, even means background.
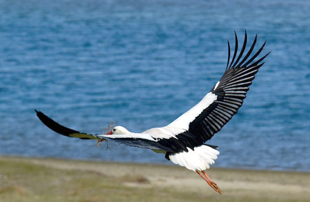
[[[251,2],[251,3],[250,3]],[[162,154],[62,137],[108,121],[167,125],[225,70],[244,30],[272,51],[245,103],[211,139],[215,166],[310,171],[310,1],[0,1],[0,154],[170,163]]]

